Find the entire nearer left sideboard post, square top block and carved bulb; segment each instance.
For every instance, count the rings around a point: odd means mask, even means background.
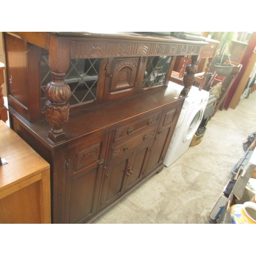
[[[70,44],[65,38],[51,37],[49,66],[53,80],[46,87],[46,119],[51,124],[48,138],[53,142],[65,140],[62,126],[69,119],[70,87],[65,83],[69,69]]]

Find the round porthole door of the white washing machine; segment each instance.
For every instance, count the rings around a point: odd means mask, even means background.
[[[191,140],[196,133],[199,124],[201,123],[203,116],[203,109],[197,109],[195,110],[191,115],[190,118],[188,119],[187,125],[184,129],[183,133],[183,142],[187,142],[188,140]]]

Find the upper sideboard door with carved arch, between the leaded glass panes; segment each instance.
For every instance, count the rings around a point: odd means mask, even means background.
[[[133,95],[140,91],[141,57],[109,58],[106,65],[106,78],[103,101]]]

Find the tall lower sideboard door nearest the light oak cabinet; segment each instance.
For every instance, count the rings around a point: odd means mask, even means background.
[[[108,133],[69,148],[65,222],[84,223],[96,214]]]

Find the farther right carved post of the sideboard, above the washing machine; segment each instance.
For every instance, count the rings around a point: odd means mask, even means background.
[[[184,88],[180,92],[181,95],[187,96],[191,86],[195,80],[195,74],[197,73],[197,58],[198,56],[191,57],[191,64],[186,67],[186,73],[183,76]]]

